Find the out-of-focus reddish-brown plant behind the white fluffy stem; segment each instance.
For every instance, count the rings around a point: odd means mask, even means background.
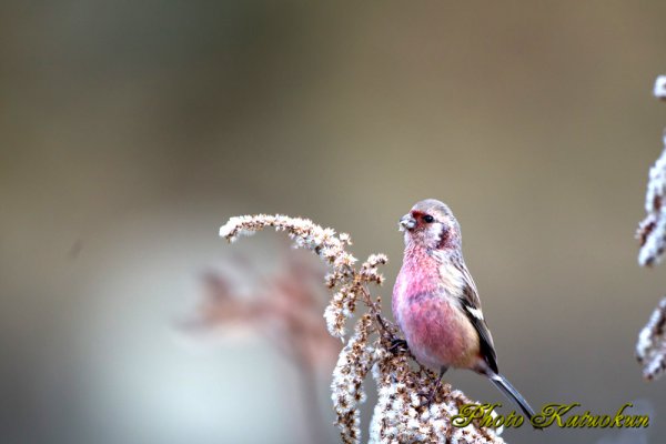
[[[323,271],[312,261],[289,254],[285,266],[265,278],[248,258],[235,255],[230,265],[234,275],[260,281],[254,293],[241,295],[238,284],[221,271],[202,275],[203,297],[198,312],[181,327],[189,333],[238,327],[251,329],[274,346],[299,373],[301,401],[313,442],[322,435],[317,389],[322,371],[329,372],[340,352],[340,342],[331,337],[321,322]]]

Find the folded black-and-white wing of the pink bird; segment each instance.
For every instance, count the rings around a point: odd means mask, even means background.
[[[481,300],[478,299],[476,284],[474,283],[472,274],[470,274],[470,271],[464,262],[457,262],[456,268],[461,271],[464,280],[463,294],[461,296],[463,311],[478,333],[478,343],[482,356],[485,359],[491,370],[493,370],[495,373],[498,373],[497,354],[495,353],[493,336],[491,335],[488,325],[486,324],[485,319],[483,317],[483,312],[481,311]]]

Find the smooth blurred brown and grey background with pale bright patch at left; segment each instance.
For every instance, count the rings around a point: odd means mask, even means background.
[[[437,198],[463,226],[500,367],[532,404],[650,415],[639,432],[506,441],[660,442],[666,381],[642,381],[634,345],[666,269],[638,268],[634,231],[666,125],[650,94],[665,16],[620,1],[2,2],[0,441],[337,442],[337,345],[294,361],[291,324],[248,310],[292,294],[300,265],[281,235],[229,245],[219,226],[281,212],[349,232],[357,258],[389,255],[389,309],[397,219]],[[321,315],[327,296],[309,289],[285,315]],[[505,402],[468,372],[447,380]]]

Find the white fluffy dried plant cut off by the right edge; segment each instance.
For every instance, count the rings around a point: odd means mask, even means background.
[[[657,99],[666,100],[666,75],[659,75],[655,81],[654,94]],[[638,225],[636,238],[640,241],[638,263],[652,266],[659,263],[666,249],[666,132],[664,133],[664,150],[662,155],[649,170],[647,193],[645,195],[646,218]],[[636,357],[643,365],[643,377],[648,381],[658,379],[666,370],[666,297],[655,309],[650,320],[643,327],[636,344]]]

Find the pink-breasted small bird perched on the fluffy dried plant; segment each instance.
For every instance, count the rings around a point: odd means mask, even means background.
[[[423,200],[398,226],[405,250],[393,287],[393,316],[416,361],[440,372],[428,404],[450,367],[466,369],[486,376],[532,422],[534,410],[497,369],[493,336],[451,209],[435,199]]]

